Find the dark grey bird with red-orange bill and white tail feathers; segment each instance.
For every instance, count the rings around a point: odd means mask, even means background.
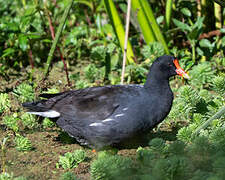
[[[47,100],[27,102],[29,113],[56,118],[81,145],[113,146],[154,128],[168,115],[173,93],[169,78],[189,78],[173,56],[161,56],[150,67],[144,85],[109,85],[42,94]]]

